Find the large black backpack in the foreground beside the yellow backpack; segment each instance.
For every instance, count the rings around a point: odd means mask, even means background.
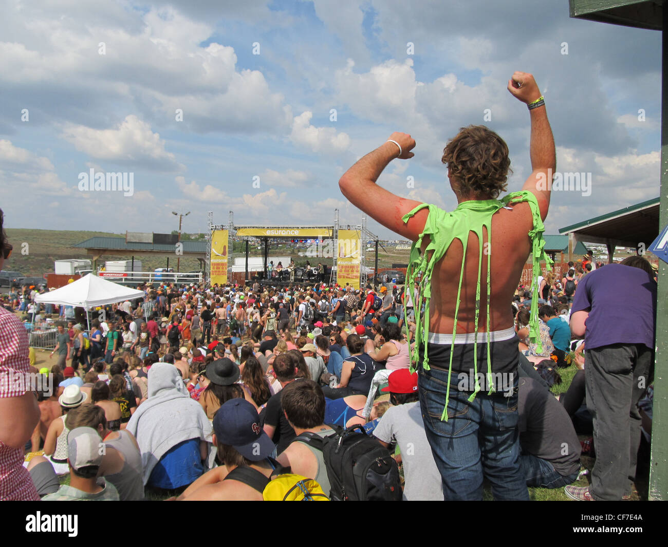
[[[395,501],[403,498],[397,462],[361,425],[343,429],[330,425],[335,433],[320,437],[309,431],[298,440],[321,450],[327,466],[332,501]],[[357,431],[359,429],[359,431]]]

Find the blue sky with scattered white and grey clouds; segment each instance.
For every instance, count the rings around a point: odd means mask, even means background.
[[[553,193],[548,233],[659,194],[661,35],[570,19],[566,0],[15,1],[4,15],[9,227],[170,232],[172,210],[192,211],[185,231],[208,210],[323,224],[335,208],[357,224],[337,181],[393,131],[415,158],[379,184],[454,208],[440,157],[468,124],[506,140],[518,190],[529,117],[506,90],[515,70],[546,98],[557,169],[592,173],[591,195]],[[80,192],[90,168],[133,172],[134,195]]]

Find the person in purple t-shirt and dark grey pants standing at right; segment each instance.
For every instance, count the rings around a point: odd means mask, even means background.
[[[578,284],[570,330],[585,336],[596,463],[589,487],[566,486],[574,500],[631,494],[641,435],[637,404],[653,375],[656,311],[654,272],[642,256],[598,268]]]

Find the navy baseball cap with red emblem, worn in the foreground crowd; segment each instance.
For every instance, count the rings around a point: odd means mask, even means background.
[[[269,458],[275,445],[263,431],[257,410],[246,399],[230,399],[213,418],[218,442],[233,447],[246,460]]]

